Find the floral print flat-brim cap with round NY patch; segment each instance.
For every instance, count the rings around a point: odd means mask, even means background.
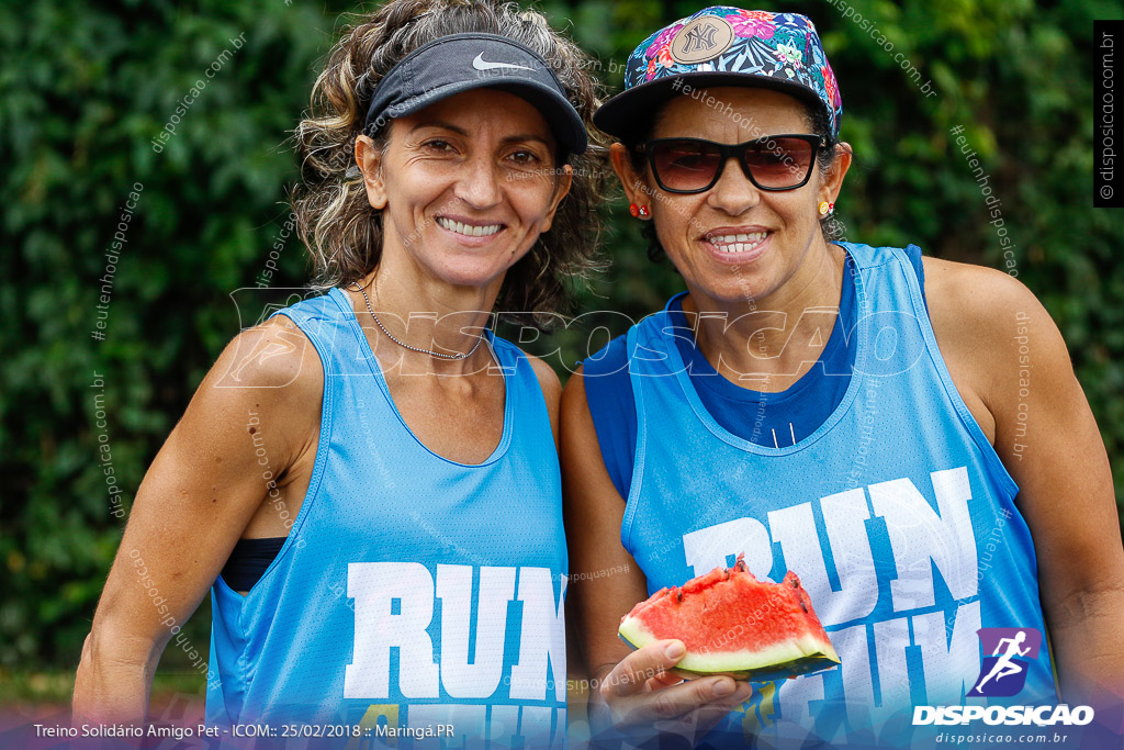
[[[644,39],[625,63],[625,90],[593,124],[627,137],[678,91],[713,85],[776,89],[808,101],[826,111],[839,138],[843,100],[812,19],[729,6],[704,8]]]

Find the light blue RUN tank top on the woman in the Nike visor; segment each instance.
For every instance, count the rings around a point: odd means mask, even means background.
[[[277,559],[246,597],[221,577],[211,588],[207,721],[353,724],[400,748],[561,747],[568,558],[531,363],[487,333],[504,433],[482,463],[457,463],[406,425],[344,292],[279,313],[324,368],[319,445]],[[452,734],[411,746],[439,725]]]

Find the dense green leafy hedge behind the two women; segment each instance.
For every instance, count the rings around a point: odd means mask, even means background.
[[[701,3],[537,7],[604,61],[616,91],[633,46]],[[1019,279],[1061,327],[1124,487],[1124,265],[1114,255],[1124,211],[1091,208],[1093,20],[1120,17],[1120,6],[855,0],[919,71],[916,83],[843,7],[769,8],[815,20],[840,80],[843,137],[856,155],[837,208],[846,237],[1003,268],[950,135],[963,126],[1003,200]],[[0,701],[69,693],[124,524],[111,514],[99,433],[127,507],[203,373],[254,323],[232,292],[254,286],[275,243],[273,286],[306,281],[303,250],[283,228],[297,177],[287,130],[339,13],[362,9],[339,0],[0,6]],[[225,65],[156,153],[153,138],[224,49]],[[921,93],[926,81],[936,96]],[[105,253],[135,182],[143,190],[96,341]],[[583,289],[582,308],[638,319],[678,279],[649,263],[619,196],[605,210],[613,265]],[[251,297],[244,307],[260,307],[263,297]],[[564,379],[563,362],[584,356],[586,343],[563,333],[533,349],[555,346]],[[96,427],[102,390],[105,431]],[[184,632],[206,650],[206,603]],[[190,672],[188,661],[170,648],[161,670]]]

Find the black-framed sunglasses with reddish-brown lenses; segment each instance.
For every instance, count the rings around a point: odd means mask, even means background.
[[[796,190],[812,177],[815,156],[827,138],[807,133],[769,135],[738,144],[701,138],[654,138],[636,147],[647,156],[652,174],[667,192],[706,192],[718,182],[726,162],[736,159],[760,190]]]

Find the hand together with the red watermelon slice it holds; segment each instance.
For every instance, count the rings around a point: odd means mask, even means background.
[[[636,651],[601,681],[600,708],[631,740],[646,730],[682,735],[692,747],[749,699],[753,690],[743,680],[840,663],[796,573],[780,584],[759,581],[742,558],[660,589],[620,620],[618,635]],[[591,704],[591,721],[596,714]]]

